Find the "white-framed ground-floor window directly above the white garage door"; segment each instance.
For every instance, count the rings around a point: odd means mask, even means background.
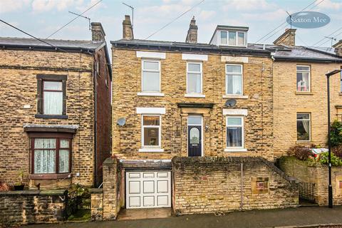
[[[142,115],[142,147],[160,147],[160,115]]]

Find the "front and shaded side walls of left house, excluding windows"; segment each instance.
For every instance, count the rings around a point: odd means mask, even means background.
[[[72,183],[99,185],[102,182],[100,166],[105,157],[110,156],[111,78],[105,46],[94,54],[1,48],[0,56],[0,160],[6,161],[0,165],[0,181],[13,185],[19,181],[18,174],[22,170],[24,182],[33,189],[38,183],[42,189],[68,187]],[[100,66],[96,76],[95,61]],[[66,115],[63,118],[36,115],[37,75],[67,78]],[[28,133],[24,132],[27,124],[78,127],[72,137],[69,176],[33,178],[31,145]],[[95,174],[98,177],[96,181]]]

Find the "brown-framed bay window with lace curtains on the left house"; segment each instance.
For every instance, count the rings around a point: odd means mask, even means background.
[[[71,172],[71,138],[31,138],[32,174]]]

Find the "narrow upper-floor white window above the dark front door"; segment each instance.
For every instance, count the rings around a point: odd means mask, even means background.
[[[202,93],[202,63],[187,63],[187,94]]]

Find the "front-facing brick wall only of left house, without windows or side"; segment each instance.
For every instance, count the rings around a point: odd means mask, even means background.
[[[0,50],[0,180],[18,182],[19,170],[29,172],[25,123],[79,125],[73,138],[73,182],[93,185],[94,99],[93,56],[49,51]],[[37,74],[67,75],[68,119],[35,118]],[[24,108],[24,105],[31,105]],[[76,172],[80,173],[76,177]],[[26,183],[27,179],[25,178]]]

